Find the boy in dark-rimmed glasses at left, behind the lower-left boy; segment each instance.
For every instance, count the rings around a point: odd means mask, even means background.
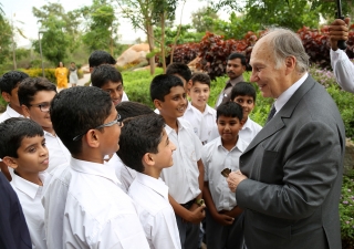
[[[49,113],[51,102],[56,95],[56,86],[45,77],[28,77],[19,85],[18,94],[23,115],[38,123],[44,131],[49,151],[46,172],[51,174],[59,165],[70,160],[70,153],[55,134]],[[71,121],[66,123],[71,126]]]

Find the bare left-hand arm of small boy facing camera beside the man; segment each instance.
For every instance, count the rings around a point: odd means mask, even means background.
[[[215,204],[214,204],[214,200],[212,200],[212,197],[211,197],[211,194],[210,194],[210,189],[209,189],[209,181],[205,181],[204,183],[204,189],[202,189],[202,196],[204,196],[204,200],[207,205],[207,208],[211,215],[211,217],[219,224],[221,224],[222,226],[229,226],[229,225],[232,225],[233,222],[233,218],[228,216],[228,215],[225,215],[225,214],[219,214]]]

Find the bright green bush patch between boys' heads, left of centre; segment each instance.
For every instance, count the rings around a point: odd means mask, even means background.
[[[162,74],[162,69],[156,69],[155,75]],[[155,75],[150,75],[147,70],[122,72],[124,81],[124,91],[129,97],[129,101],[139,102],[152,108],[155,108],[149,94],[150,83]]]

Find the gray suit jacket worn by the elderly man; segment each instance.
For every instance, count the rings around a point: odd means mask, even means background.
[[[240,157],[236,191],[248,249],[340,249],[345,132],[311,76]]]

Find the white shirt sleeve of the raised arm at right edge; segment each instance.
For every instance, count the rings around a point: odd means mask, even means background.
[[[331,65],[336,82],[343,90],[354,93],[354,64],[342,50],[331,50]]]

